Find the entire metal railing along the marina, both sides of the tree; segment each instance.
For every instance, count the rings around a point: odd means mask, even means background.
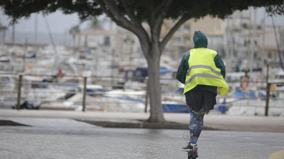
[[[267,69],[267,73],[268,73],[268,69]],[[85,111],[86,110],[86,105],[87,104],[94,104],[94,103],[97,103],[97,104],[104,104],[104,103],[109,103],[109,104],[115,104],[116,102],[115,101],[86,101],[86,97],[87,95],[94,95],[94,96],[103,96],[106,94],[106,92],[87,92],[87,86],[89,85],[89,83],[87,83],[87,79],[88,78],[95,78],[96,80],[98,79],[106,79],[106,78],[121,78],[121,77],[108,77],[108,76],[92,76],[92,77],[82,77],[82,76],[66,76],[66,77],[74,77],[74,78],[81,78],[82,80],[82,83],[72,83],[72,82],[38,82],[38,81],[24,81],[23,80],[23,76],[26,76],[24,74],[10,74],[10,75],[13,75],[13,76],[18,76],[18,80],[17,81],[14,81],[14,82],[0,82],[0,84],[2,83],[5,83],[5,84],[8,84],[8,83],[12,83],[12,84],[15,84],[17,85],[17,90],[5,90],[5,89],[1,89],[0,90],[0,93],[15,93],[17,94],[17,98],[16,98],[16,109],[20,109],[20,105],[21,105],[21,101],[23,100],[27,100],[27,101],[31,101],[31,102],[64,102],[66,101],[65,99],[48,99],[48,98],[44,98],[44,99],[30,99],[28,97],[26,98],[23,98],[22,96],[22,93],[37,93],[37,94],[41,94],[40,91],[31,91],[31,90],[22,90],[22,87],[23,85],[27,85],[27,84],[31,84],[31,85],[59,85],[59,86],[74,86],[74,85],[77,85],[78,87],[80,87],[80,91],[63,91],[63,90],[56,90],[56,91],[46,91],[44,93],[65,93],[65,94],[72,94],[72,93],[81,93],[83,95],[82,97],[82,101],[74,101],[74,100],[68,100],[69,102],[82,102],[82,111]],[[34,75],[33,75],[34,76]],[[103,84],[100,84],[100,83],[96,83],[97,85],[102,85],[104,87],[120,87],[120,88],[123,88],[123,89],[126,89],[126,88],[142,88],[143,90],[145,90],[145,94],[131,94],[131,96],[137,96],[137,98],[139,97],[139,102],[143,102],[144,105],[145,105],[145,109],[144,111],[147,112],[147,109],[148,109],[148,104],[149,104],[149,93],[148,93],[148,78],[122,78],[122,79],[131,79],[131,80],[145,80],[145,85],[124,85],[124,84],[113,84],[113,82],[111,83],[103,83]],[[161,79],[161,80],[174,80],[176,81],[176,79]],[[113,80],[112,80],[113,81]],[[110,81],[109,81],[110,82]],[[227,81],[228,83],[230,82],[239,82],[239,81]],[[263,82],[263,81],[261,81]],[[260,82],[255,82],[255,81],[250,81],[250,83],[260,83]],[[229,95],[225,95],[225,96],[217,96],[216,99],[217,100],[220,100],[220,99],[224,99],[224,98],[231,98],[231,99],[236,99],[236,100],[243,100],[243,99],[260,99],[260,100],[265,100],[266,101],[266,105],[265,105],[265,115],[267,116],[268,115],[268,110],[269,110],[269,99],[270,99],[270,93],[273,92],[273,93],[279,93],[279,92],[284,92],[284,91],[281,91],[281,90],[271,90],[271,85],[273,84],[277,84],[277,83],[272,83],[272,82],[268,82],[268,78],[266,78],[266,96],[256,96],[256,97],[250,97],[250,96],[245,96],[245,97],[234,97],[234,96],[229,96]],[[283,83],[279,83],[279,84],[283,84]],[[171,97],[180,97],[180,99],[183,99],[184,96],[182,94],[174,94],[173,93],[173,90],[177,89],[177,87],[173,87],[173,86],[166,86],[166,85],[162,85],[161,86],[161,89],[165,89],[166,92],[171,92],[171,93],[163,93],[162,94],[162,98],[164,100],[172,100]],[[234,89],[235,91],[242,91],[241,88],[236,88]],[[257,91],[257,90],[248,90],[248,92],[252,92],[252,91]],[[127,93],[119,93],[119,94],[111,94],[112,96],[127,96],[129,94]],[[278,98],[278,99],[281,99],[282,98]],[[284,100],[284,99],[283,99]],[[15,101],[15,99],[5,99],[5,101]],[[172,100],[172,101],[175,101],[175,100]],[[185,100],[183,101],[176,101],[176,102],[179,102],[179,103],[183,103],[186,105],[185,103]],[[137,101],[133,102],[133,101],[124,101],[124,102],[120,102],[120,104],[137,104]],[[218,105],[220,106],[226,106],[228,107],[228,105],[230,104],[230,102],[225,102],[225,103],[222,103],[222,102],[217,102]],[[242,104],[234,104],[234,106],[240,106],[240,107],[244,107],[244,105]],[[259,107],[262,107],[260,105],[245,105],[246,107],[256,107],[256,108],[259,108]],[[273,106],[273,108],[283,108],[283,106]]]

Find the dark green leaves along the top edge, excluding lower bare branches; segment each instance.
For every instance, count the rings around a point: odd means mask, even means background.
[[[100,6],[104,4],[106,6]],[[245,10],[250,6],[266,7],[266,11],[271,14],[283,14],[284,7],[283,0],[1,0],[0,5],[13,22],[22,17],[28,18],[35,12],[48,14],[58,9],[64,14],[78,13],[81,20],[88,20],[115,8],[120,15],[130,16],[131,13],[141,22],[149,19],[149,16],[158,18],[160,14],[164,14],[164,18],[172,19],[178,19],[185,14],[190,14],[192,18],[201,18],[207,14],[225,18],[235,10]]]

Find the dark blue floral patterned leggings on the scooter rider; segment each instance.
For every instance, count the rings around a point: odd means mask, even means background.
[[[198,112],[193,111],[189,107],[190,121],[189,121],[189,132],[190,132],[190,143],[196,144],[197,139],[203,128],[203,117],[205,114],[205,103],[202,102]]]

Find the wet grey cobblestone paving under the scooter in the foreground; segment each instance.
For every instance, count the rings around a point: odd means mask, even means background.
[[[183,130],[0,126],[0,158],[187,158]],[[202,131],[200,159],[268,158],[284,149],[284,134]]]

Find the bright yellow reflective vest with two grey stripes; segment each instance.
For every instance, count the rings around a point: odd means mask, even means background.
[[[190,50],[189,70],[187,70],[183,94],[197,85],[217,86],[221,95],[225,95],[229,91],[221,70],[215,65],[216,55],[216,51],[207,48]]]

